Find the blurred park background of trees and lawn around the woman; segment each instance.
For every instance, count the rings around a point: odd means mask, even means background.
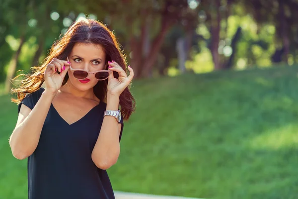
[[[298,0],[0,0],[0,199],[27,197],[10,79],[75,21],[102,21],[135,71],[114,190],[298,198]],[[17,72],[18,70],[23,70]]]

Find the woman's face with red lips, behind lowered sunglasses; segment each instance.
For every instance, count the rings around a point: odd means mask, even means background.
[[[106,70],[106,53],[101,45],[75,43],[71,54],[68,56],[72,69],[83,69],[89,72]],[[84,80],[78,80],[74,77],[74,72],[69,70],[69,81],[80,90],[87,91],[93,88],[98,80],[91,73]]]

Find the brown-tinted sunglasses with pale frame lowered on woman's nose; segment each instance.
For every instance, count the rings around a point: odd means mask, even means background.
[[[70,62],[68,57],[67,57],[67,61]],[[74,77],[78,80],[83,80],[83,79],[87,78],[90,73],[93,73],[94,77],[99,81],[108,79],[109,75],[113,72],[113,71],[107,71],[107,70],[89,72],[89,71],[82,70],[82,69],[73,69],[71,64],[70,64],[70,70],[73,72]]]

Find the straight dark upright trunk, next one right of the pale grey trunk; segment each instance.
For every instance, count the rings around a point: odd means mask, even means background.
[[[218,52],[220,42],[220,30],[221,30],[221,16],[220,16],[220,0],[214,0],[214,9],[211,13],[211,53],[214,63],[214,69],[221,69],[220,54]]]

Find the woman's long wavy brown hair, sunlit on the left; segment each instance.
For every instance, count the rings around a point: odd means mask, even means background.
[[[20,76],[25,76],[21,81],[21,85],[18,88],[11,89],[11,93],[17,94],[17,99],[11,99],[13,102],[20,103],[26,96],[26,94],[37,91],[45,81],[44,72],[47,65],[57,58],[60,60],[66,60],[67,56],[71,53],[74,44],[77,42],[92,43],[101,45],[106,53],[106,62],[117,62],[125,71],[126,70],[126,56],[115,37],[115,35],[101,22],[84,19],[74,22],[74,24],[68,29],[63,37],[55,42],[50,49],[49,55],[43,61],[41,66],[32,67],[32,74],[21,74],[16,76],[13,80],[16,80]],[[106,64],[106,67],[108,65]],[[105,69],[107,70],[107,68]],[[118,78],[119,74],[114,71],[114,77]],[[68,81],[68,74],[65,76],[62,85],[65,85]],[[107,95],[108,79],[105,81],[98,81],[94,86],[94,94],[99,100],[106,99]],[[130,86],[129,86],[130,87]],[[127,120],[133,111],[135,111],[135,99],[129,91],[129,87],[126,88],[120,95],[120,106],[123,118]]]

